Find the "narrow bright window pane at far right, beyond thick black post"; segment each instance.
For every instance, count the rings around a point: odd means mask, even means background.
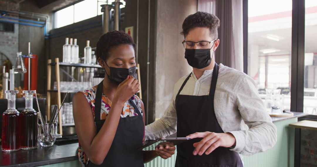
[[[305,0],[304,112],[317,115],[317,1]]]

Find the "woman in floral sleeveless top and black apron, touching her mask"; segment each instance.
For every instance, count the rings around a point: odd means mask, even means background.
[[[135,44],[123,31],[103,34],[97,42],[97,59],[105,69],[97,86],[73,98],[73,115],[82,166],[144,166],[158,155],[174,154],[173,145],[156,151],[137,151],[143,145],[145,112],[139,91]]]

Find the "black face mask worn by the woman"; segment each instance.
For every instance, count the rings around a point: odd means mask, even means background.
[[[119,85],[121,82],[123,82],[126,79],[128,75],[132,75],[133,77],[136,78],[136,73],[135,73],[136,66],[133,66],[130,68],[114,68],[114,67],[109,67],[109,68],[110,68],[110,76],[107,74],[107,71],[105,70],[106,74],[108,78],[110,79],[110,81],[112,81],[115,84]]]

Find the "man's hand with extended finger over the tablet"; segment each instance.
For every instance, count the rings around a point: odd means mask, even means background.
[[[218,147],[231,147],[236,145],[236,138],[231,133],[196,132],[186,137],[204,138],[200,142],[194,143],[193,155],[206,155],[213,152]]]

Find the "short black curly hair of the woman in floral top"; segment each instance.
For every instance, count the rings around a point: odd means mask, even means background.
[[[135,43],[129,34],[123,31],[109,31],[106,34],[100,36],[96,46],[96,57],[107,61],[109,57],[109,51],[113,46],[122,44],[129,44],[133,46],[135,52]]]

